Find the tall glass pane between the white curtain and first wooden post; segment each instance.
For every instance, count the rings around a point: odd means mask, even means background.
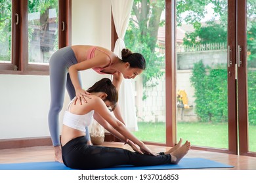
[[[144,56],[146,70],[132,81],[139,127],[133,133],[142,141],[165,142],[165,1],[134,3],[125,46]]]

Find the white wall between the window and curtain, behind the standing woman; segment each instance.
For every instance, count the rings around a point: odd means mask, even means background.
[[[111,49],[111,1],[72,1],[72,44],[87,44]],[[85,88],[106,75],[92,69],[81,72]],[[95,78],[95,80],[92,80]]]

